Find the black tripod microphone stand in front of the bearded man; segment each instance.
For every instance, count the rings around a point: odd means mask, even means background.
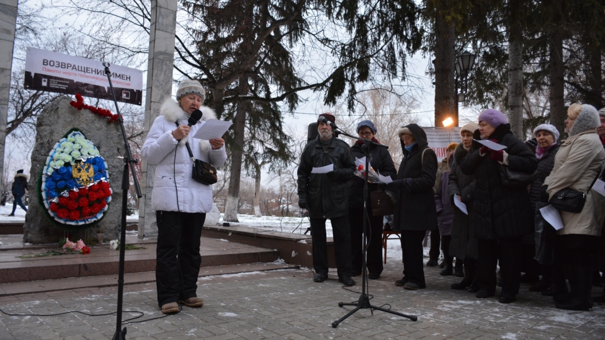
[[[332,129],[336,130],[338,129],[338,126],[334,125],[333,123],[330,124],[332,126]],[[338,324],[340,324],[342,321],[344,321],[344,319],[348,318],[349,316],[353,315],[353,313],[357,312],[360,309],[371,309],[372,311],[374,309],[377,310],[382,310],[382,312],[387,312],[387,313],[391,313],[394,315],[399,315],[399,316],[403,316],[404,318],[408,318],[411,321],[416,321],[418,319],[417,316],[415,315],[405,315],[399,312],[395,312],[394,310],[389,310],[389,309],[384,309],[382,307],[376,307],[376,306],[372,306],[370,304],[370,298],[368,296],[368,294],[365,292],[365,287],[367,286],[367,263],[366,263],[366,254],[367,254],[367,244],[366,244],[366,240],[367,240],[367,230],[368,230],[368,198],[370,197],[370,195],[368,194],[368,171],[370,169],[370,145],[376,146],[378,148],[385,148],[387,149],[388,146],[386,145],[382,145],[376,142],[372,142],[371,140],[367,140],[367,139],[361,139],[359,137],[355,137],[355,136],[351,136],[350,134],[347,134],[345,132],[342,131],[334,131],[334,134],[336,136],[338,136],[339,134],[343,134],[344,136],[350,137],[352,139],[356,139],[359,140],[363,143],[363,145],[361,146],[361,149],[364,151],[365,154],[365,173],[364,173],[364,235],[362,238],[362,244],[363,244],[363,258],[362,258],[362,270],[361,270],[361,295],[359,295],[359,300],[358,302],[350,302],[350,303],[345,303],[345,302],[338,302],[338,307],[342,307],[342,306],[355,306],[355,309],[353,309],[352,311],[348,312],[347,315],[343,316],[342,318],[338,319],[337,321],[332,322],[332,327],[336,328],[338,327]],[[378,235],[372,235],[372,237],[376,237]]]

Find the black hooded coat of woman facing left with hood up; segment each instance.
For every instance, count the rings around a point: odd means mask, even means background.
[[[437,229],[437,210],[433,185],[437,173],[437,155],[428,147],[427,134],[420,126],[410,124],[416,145],[408,152],[401,141],[404,159],[401,161],[397,180],[405,180],[396,192],[395,230]],[[425,151],[426,150],[426,151]],[[424,157],[422,153],[424,152]]]

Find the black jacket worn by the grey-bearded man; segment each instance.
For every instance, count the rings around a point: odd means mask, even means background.
[[[334,165],[337,178],[312,174],[313,168]],[[322,145],[319,136],[307,143],[298,165],[298,197],[306,198],[310,218],[348,215],[348,188],[355,172],[355,162],[348,144],[333,137]]]

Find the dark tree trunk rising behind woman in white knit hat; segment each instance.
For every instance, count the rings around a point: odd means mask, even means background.
[[[557,1],[558,2],[558,1]],[[555,2],[556,3],[556,2]],[[565,131],[564,120],[567,118],[564,102],[564,73],[563,65],[563,36],[560,30],[555,30],[549,39],[549,104],[551,109],[551,124],[558,131]]]

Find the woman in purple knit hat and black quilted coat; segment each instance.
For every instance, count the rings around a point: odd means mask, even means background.
[[[488,109],[479,115],[480,136],[506,146],[496,151],[487,146],[473,146],[460,163],[466,175],[476,180],[474,200],[474,231],[478,240],[479,286],[477,298],[495,295],[497,263],[500,263],[502,293],[499,301],[515,301],[521,276],[523,235],[534,232],[533,212],[525,186],[505,186],[500,166],[511,171],[534,172],[537,162],[529,148],[512,135],[506,117],[498,110]],[[500,261],[500,262],[499,262]]]

